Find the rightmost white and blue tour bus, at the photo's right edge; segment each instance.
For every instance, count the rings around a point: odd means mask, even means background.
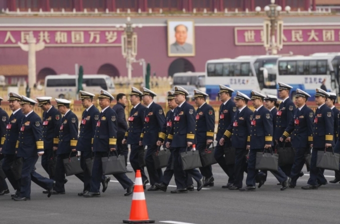
[[[291,97],[299,88],[312,96],[309,100],[314,100],[315,88],[319,88],[323,80],[327,91],[338,93],[331,57],[322,55],[280,57],[277,60],[276,80],[293,87]]]

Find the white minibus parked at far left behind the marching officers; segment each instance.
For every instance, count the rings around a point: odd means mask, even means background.
[[[74,74],[56,74],[45,77],[45,95],[53,98],[77,98],[77,77]],[[114,93],[114,83],[106,74],[84,74],[82,89],[99,94],[100,89]]]

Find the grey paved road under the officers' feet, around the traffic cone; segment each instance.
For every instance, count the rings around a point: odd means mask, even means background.
[[[38,161],[37,171],[43,175]],[[129,168],[130,165],[128,165]],[[306,170],[304,170],[305,173]],[[145,191],[149,217],[156,223],[177,221],[194,224],[208,223],[339,223],[340,184],[327,184],[318,190],[302,190],[308,179],[304,175],[294,189],[279,190],[277,180],[268,174],[267,182],[255,192],[239,192],[222,189],[226,175],[218,165],[213,165],[215,186],[187,194]],[[132,173],[128,176],[132,179]],[[325,175],[333,175],[325,171]],[[0,196],[0,223],[121,223],[129,217],[131,196],[123,196],[124,190],[111,177],[108,189],[99,198],[77,196],[82,183],[69,176],[65,195],[47,198],[42,189],[32,183],[30,201],[13,201],[8,194]],[[328,180],[332,177],[326,177]],[[171,183],[174,185],[172,179]],[[10,191],[14,190],[10,187]],[[176,222],[172,222],[176,223]]]

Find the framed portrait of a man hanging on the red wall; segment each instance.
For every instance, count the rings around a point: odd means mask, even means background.
[[[167,55],[195,55],[193,20],[167,20]]]

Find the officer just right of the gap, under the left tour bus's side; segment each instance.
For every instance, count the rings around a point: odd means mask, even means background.
[[[219,166],[223,169],[223,171],[228,175],[228,182],[226,185],[223,185],[222,188],[229,188],[232,186],[234,182],[234,164],[227,165],[224,158],[224,147],[229,147],[231,142],[230,138],[226,138],[223,145],[219,144],[219,140],[224,134],[224,131],[231,124],[231,120],[236,112],[235,102],[231,100],[231,94],[234,92],[233,89],[225,86],[219,85],[219,100],[222,101],[222,104],[219,107],[218,112],[218,127],[216,134],[217,145],[215,147],[215,159],[218,162]]]

